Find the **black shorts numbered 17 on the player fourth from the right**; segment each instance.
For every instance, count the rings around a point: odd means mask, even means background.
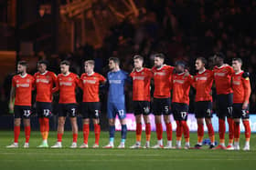
[[[188,114],[187,104],[173,103],[172,112],[176,121],[181,121],[181,120],[187,121],[187,114]]]

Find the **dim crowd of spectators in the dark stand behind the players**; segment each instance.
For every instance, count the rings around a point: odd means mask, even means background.
[[[122,69],[131,72],[133,55],[143,55],[145,66],[152,67],[154,54],[163,53],[167,65],[184,60],[194,75],[197,56],[209,58],[222,52],[227,56],[227,64],[230,65],[231,58],[240,57],[243,69],[251,73],[251,113],[256,113],[255,17],[253,0],[146,0],[138,17],[128,16],[112,26],[101,48],[85,45],[74,53],[38,56],[48,59],[49,69],[55,73],[59,73],[59,62],[67,59],[72,63],[71,70],[78,75],[83,72],[82,61],[94,59],[95,71],[106,75],[111,56],[119,57]],[[127,108],[132,112],[131,86],[126,94]],[[192,99],[194,91],[190,94]],[[104,93],[101,97],[102,103],[106,103]]]

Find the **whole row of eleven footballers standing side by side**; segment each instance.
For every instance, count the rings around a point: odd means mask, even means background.
[[[69,72],[69,61],[60,63],[60,74],[56,76],[48,71],[47,61],[38,61],[35,75],[27,74],[27,62],[17,63],[17,75],[12,79],[9,109],[14,111],[14,143],[7,148],[17,148],[20,134],[20,125],[23,123],[25,131],[25,144],[29,147],[31,133],[30,115],[32,103],[32,91],[36,90],[36,112],[39,119],[42,137],[41,145],[37,147],[47,148],[49,135],[49,116],[52,109],[52,94],[59,92],[58,105],[58,132],[57,142],[50,148],[61,148],[64,134],[66,117],[69,116],[72,128],[72,143],[70,148],[88,148],[90,135],[90,120],[94,126],[94,145],[99,148],[101,125],[99,116],[101,114],[101,101],[99,87],[104,85],[108,90],[107,115],[109,119],[109,141],[102,148],[114,148],[115,139],[115,117],[118,116],[121,124],[121,142],[117,148],[125,148],[127,137],[127,125],[125,122],[125,94],[126,84],[133,85],[133,114],[135,115],[136,131],[135,144],[129,148],[165,148],[181,149],[182,135],[184,135],[185,149],[200,149],[203,147],[204,124],[208,128],[208,148],[214,150],[240,150],[240,122],[244,125],[245,140],[244,151],[250,150],[251,126],[249,121],[249,98],[251,85],[249,73],[241,70],[240,58],[233,58],[232,65],[224,63],[225,55],[215,54],[212,58],[212,70],[207,69],[207,60],[197,57],[195,66],[197,75],[190,75],[186,69],[186,63],[177,61],[175,66],[165,65],[165,55],[155,54],[154,67],[145,68],[144,58],[141,55],[133,56],[133,72],[128,74],[120,68],[117,57],[109,58],[110,72],[106,77],[95,73],[94,61],[84,62],[85,73],[80,75]],[[217,91],[217,115],[219,118],[219,145],[217,144],[212,118],[212,95],[213,83]],[[149,120],[151,85],[154,85],[152,110],[155,115],[156,144],[151,145],[151,124]],[[190,134],[187,125],[189,108],[189,90],[195,88],[195,116],[197,118],[197,144],[190,145]],[[81,103],[82,115],[82,145],[78,146],[78,124],[76,101],[76,88],[83,91]],[[171,93],[172,92],[172,93]],[[171,95],[172,94],[172,95]],[[173,127],[170,115],[176,121],[176,144],[173,144]],[[162,121],[164,117],[164,121]],[[145,124],[145,141],[142,145],[143,128],[142,119]],[[22,121],[23,120],[23,121]],[[229,125],[229,142],[225,144],[226,120]],[[166,145],[163,143],[163,124],[166,127]]]

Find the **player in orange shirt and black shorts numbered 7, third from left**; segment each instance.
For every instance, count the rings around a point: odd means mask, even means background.
[[[59,90],[59,108],[58,108],[58,140],[52,148],[62,147],[62,135],[64,134],[64,125],[66,117],[69,115],[69,120],[72,126],[73,142],[70,148],[77,147],[78,139],[78,124],[77,124],[77,102],[76,102],[76,87],[79,86],[79,76],[69,72],[69,61],[60,63],[61,74],[57,77],[57,85],[54,91]]]

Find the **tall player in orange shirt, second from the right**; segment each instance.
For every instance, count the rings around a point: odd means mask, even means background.
[[[215,149],[233,150],[234,120],[232,118],[233,90],[231,87],[231,75],[234,70],[231,66],[225,65],[225,55],[217,53],[215,56],[215,67],[213,69],[216,85],[216,111],[219,118],[219,145]],[[229,145],[225,146],[226,125],[229,124]]]

